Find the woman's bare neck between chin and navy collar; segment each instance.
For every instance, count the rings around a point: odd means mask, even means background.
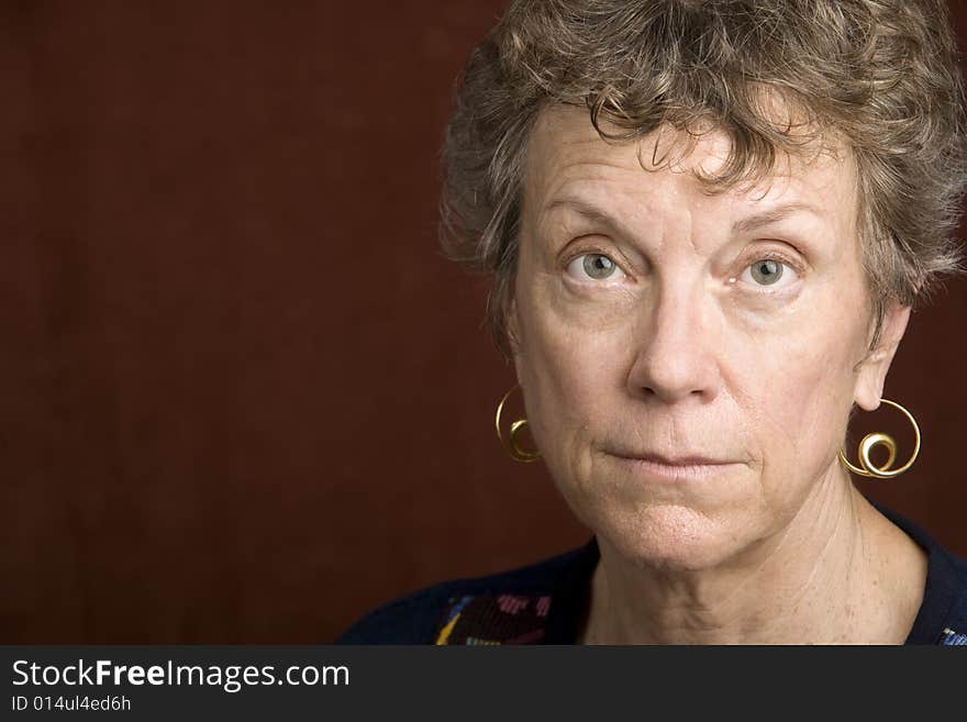
[[[586,644],[900,644],[926,556],[838,465],[781,531],[708,569],[623,558],[599,536]]]

